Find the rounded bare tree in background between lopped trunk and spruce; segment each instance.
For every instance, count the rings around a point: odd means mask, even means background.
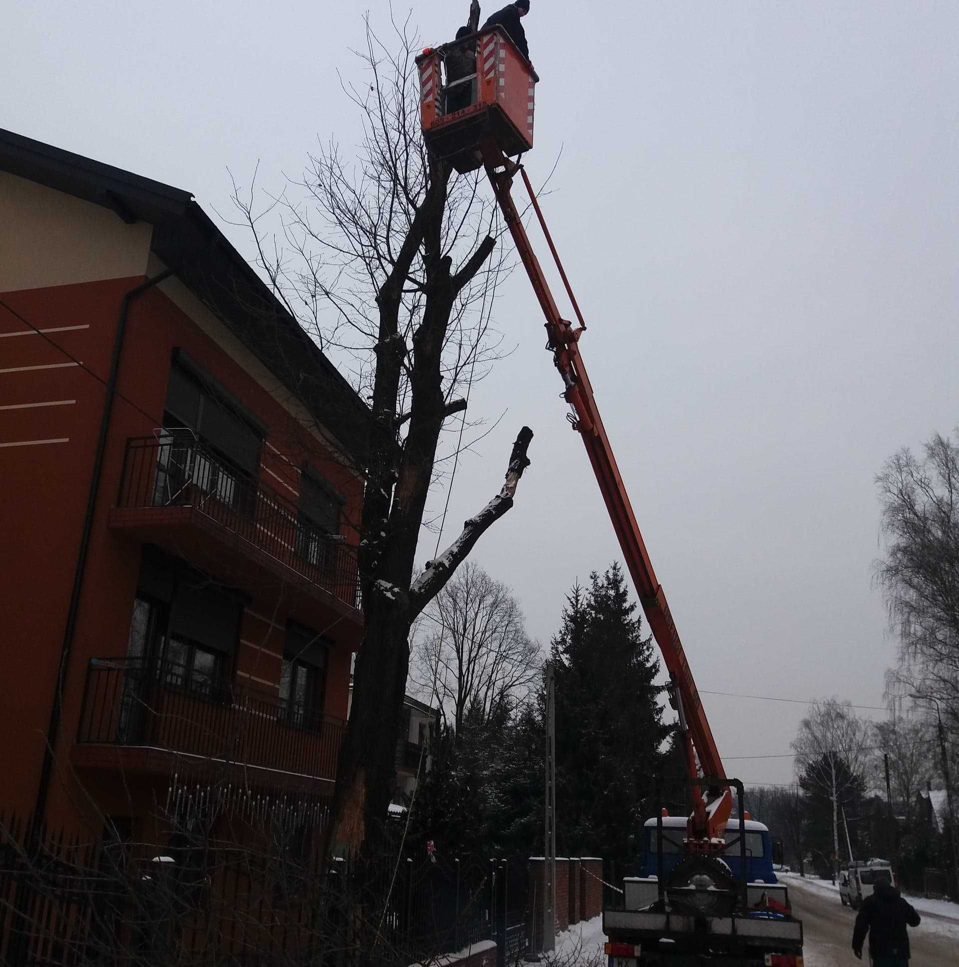
[[[456,735],[467,712],[488,722],[538,682],[539,648],[509,588],[467,562],[430,603],[414,677]]]

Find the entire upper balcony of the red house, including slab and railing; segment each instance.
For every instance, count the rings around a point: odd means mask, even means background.
[[[362,628],[356,548],[189,431],[127,441],[110,526],[239,587],[298,588]]]

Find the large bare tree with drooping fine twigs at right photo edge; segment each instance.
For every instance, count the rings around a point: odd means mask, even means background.
[[[959,736],[959,431],[936,433],[916,457],[890,457],[876,477],[886,553],[876,576],[900,638],[898,676],[933,695]]]

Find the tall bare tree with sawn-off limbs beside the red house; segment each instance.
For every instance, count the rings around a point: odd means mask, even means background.
[[[372,407],[356,522],[365,635],[328,840],[347,853],[387,814],[411,623],[509,510],[532,438],[524,427],[503,489],[414,579],[441,433],[496,357],[489,308],[502,253],[492,257],[496,213],[479,176],[454,175],[422,143],[415,31],[392,17],[389,30],[384,43],[367,17],[366,79],[344,87],[363,121],[356,159],[333,143],[321,148],[299,186],[303,199],[291,189],[265,212],[254,212],[252,194],[235,196],[279,298]],[[282,220],[273,236],[263,227],[271,212]]]

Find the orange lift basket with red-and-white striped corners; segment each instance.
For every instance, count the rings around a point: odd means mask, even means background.
[[[454,62],[473,71],[450,79]],[[502,27],[427,47],[417,58],[423,139],[461,172],[482,166],[480,144],[507,157],[533,147],[538,75]]]

